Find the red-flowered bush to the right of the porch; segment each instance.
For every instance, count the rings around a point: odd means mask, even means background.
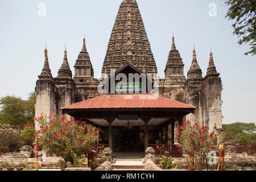
[[[178,133],[179,151],[183,150],[184,154],[189,156],[189,167],[193,169],[195,161],[199,164],[199,169],[203,169],[208,153],[217,148],[214,146],[217,134],[208,134],[207,126],[200,127],[197,123],[191,125],[189,121],[183,121],[182,126],[178,126]]]

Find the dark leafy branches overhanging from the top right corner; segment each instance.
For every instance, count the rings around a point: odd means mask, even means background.
[[[245,55],[256,55],[256,0],[224,0],[229,6],[226,18],[235,20],[232,27],[238,44],[249,43],[250,51]]]

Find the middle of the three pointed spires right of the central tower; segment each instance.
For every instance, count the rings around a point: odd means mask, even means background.
[[[202,78],[202,70],[199,67],[199,64],[197,63],[196,59],[196,50],[195,50],[195,44],[193,46],[193,59],[191,67],[188,71],[188,78]]]

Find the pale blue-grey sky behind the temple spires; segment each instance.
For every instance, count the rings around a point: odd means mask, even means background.
[[[44,64],[46,42],[53,77],[63,61],[65,45],[74,73],[73,65],[84,34],[94,77],[98,77],[121,2],[1,0],[0,97],[14,94],[26,99],[34,91]],[[46,16],[38,14],[40,3],[46,5]],[[238,46],[232,22],[224,18],[228,7],[214,0],[137,0],[137,3],[160,78],[164,78],[172,32],[185,64],[185,76],[192,62],[193,43],[203,76],[212,46],[224,89],[222,123],[256,122],[251,115],[256,111],[256,57],[244,55],[249,46]],[[217,5],[216,16],[209,16],[210,3]]]

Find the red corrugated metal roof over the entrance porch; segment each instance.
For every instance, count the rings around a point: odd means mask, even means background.
[[[140,94],[105,94],[90,100],[77,102],[61,109],[106,109],[106,108],[184,108],[194,106],[174,101],[150,93]]]

